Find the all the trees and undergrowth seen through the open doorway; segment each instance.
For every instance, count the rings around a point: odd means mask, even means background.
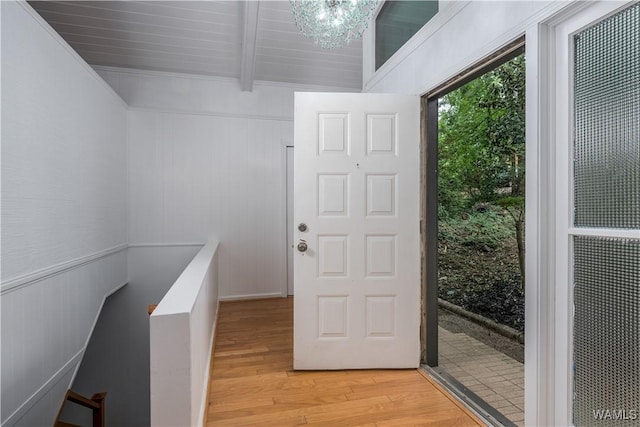
[[[524,327],[525,59],[439,105],[440,297]]]

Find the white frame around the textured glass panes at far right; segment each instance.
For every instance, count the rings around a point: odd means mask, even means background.
[[[638,239],[637,230],[581,228],[573,225],[573,57],[574,36],[629,6],[632,2],[598,2],[588,4],[551,28],[550,96],[554,164],[552,194],[555,207],[555,404],[556,424],[573,425],[573,318],[574,318],[574,248],[576,236]],[[555,193],[555,194],[553,194]]]

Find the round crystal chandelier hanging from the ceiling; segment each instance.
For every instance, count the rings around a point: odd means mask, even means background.
[[[324,49],[362,36],[379,0],[289,0],[296,24]]]

